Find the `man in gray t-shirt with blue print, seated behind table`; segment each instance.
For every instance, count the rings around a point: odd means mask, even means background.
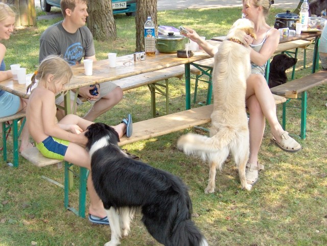
[[[75,1],[75,6],[69,5],[71,1],[61,2],[65,2],[61,3],[64,19],[46,29],[41,35],[39,62],[49,55],[61,55],[71,65],[80,64],[82,58],[96,61],[93,36],[85,26],[86,17],[88,16],[86,2]],[[95,87],[89,86],[80,88],[78,92],[78,104],[82,104],[81,97],[94,103],[83,117],[90,121],[94,121],[123,98],[123,90],[111,81],[96,86],[99,92],[98,95],[91,95],[89,91]],[[75,97],[75,91],[71,91],[72,99]],[[56,99],[56,104],[63,106],[63,101],[63,95],[59,96]],[[71,105],[73,105],[73,102],[71,102]],[[57,110],[58,120],[63,116],[63,110]]]

